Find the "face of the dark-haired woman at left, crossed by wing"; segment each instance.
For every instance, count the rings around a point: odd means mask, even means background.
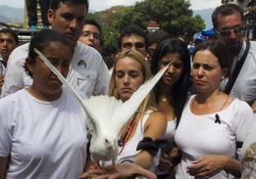
[[[60,73],[67,77],[72,60],[72,50],[69,46],[60,42],[50,42],[42,50],[42,54],[56,67]],[[29,61],[29,59],[28,59]],[[37,56],[35,63],[28,63],[28,69],[32,73],[33,84],[32,88],[36,91],[36,96],[50,96],[55,99],[62,94],[62,82],[58,77],[47,67],[43,61]]]

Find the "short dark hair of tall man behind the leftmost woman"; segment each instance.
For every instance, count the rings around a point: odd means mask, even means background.
[[[57,10],[60,8],[60,3],[63,4],[81,4],[84,5],[86,8],[86,13],[89,10],[89,2],[88,0],[51,0],[50,9]]]

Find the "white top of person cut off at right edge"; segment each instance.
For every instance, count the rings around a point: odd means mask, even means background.
[[[240,153],[242,164],[241,179],[256,178],[256,114],[254,114],[253,123],[246,134],[245,140]]]

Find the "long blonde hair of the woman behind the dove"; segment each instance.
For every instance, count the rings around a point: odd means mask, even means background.
[[[136,51],[128,50],[120,53],[118,58],[116,59],[113,67],[113,72],[110,78],[110,86],[109,86],[109,96],[114,96],[116,99],[120,99],[120,96],[118,94],[118,90],[116,88],[116,67],[118,62],[121,59],[124,59],[125,57],[128,57],[136,62],[138,62],[141,65],[141,70],[144,78],[144,82],[147,81],[148,79],[151,78],[152,73],[150,71],[150,68],[145,60],[145,58]],[[147,111],[147,110],[152,110],[152,111],[157,111],[157,103],[155,100],[155,96],[153,93],[153,90],[150,91],[150,93],[146,96],[146,98],[143,100],[141,105],[138,108],[138,112],[140,113],[141,116]]]

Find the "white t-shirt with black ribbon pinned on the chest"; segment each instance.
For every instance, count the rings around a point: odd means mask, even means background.
[[[182,151],[177,179],[193,179],[194,177],[186,172],[186,167],[199,157],[223,155],[234,158],[236,141],[244,141],[253,120],[251,108],[238,99],[234,99],[230,106],[221,112],[196,115],[189,108],[193,98],[194,96],[186,103],[175,134],[175,142]],[[216,113],[220,116],[220,124],[215,123]],[[211,178],[225,179],[227,173],[223,170]]]

